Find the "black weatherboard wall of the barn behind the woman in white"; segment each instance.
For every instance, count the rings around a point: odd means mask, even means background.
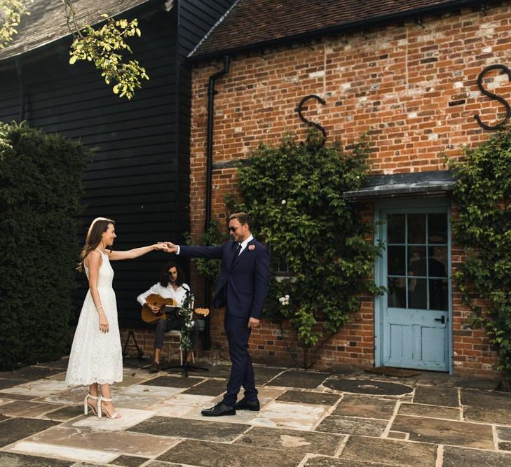
[[[189,230],[191,84],[184,59],[232,3],[149,1],[122,13],[139,19],[142,38],[130,45],[151,78],[130,102],[113,94],[93,64],[69,65],[69,37],[0,62],[2,121],[27,120],[97,148],[83,175],[80,242],[96,216],[116,220],[119,250],[182,240]],[[121,326],[142,327],[136,296],[168,259],[153,252],[114,263]],[[83,275],[77,284],[78,313],[87,291]]]

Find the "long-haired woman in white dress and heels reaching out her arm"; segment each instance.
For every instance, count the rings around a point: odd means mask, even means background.
[[[165,245],[154,244],[113,251],[115,238],[115,223],[111,219],[98,217],[90,224],[76,268],[81,272],[85,270],[89,290],[74,333],[66,374],[67,384],[89,386],[83,400],[85,414],[90,409],[97,417],[103,414],[111,419],[121,417],[114,409],[110,384],[123,380],[123,356],[110,261],[137,258],[149,251],[165,249]]]

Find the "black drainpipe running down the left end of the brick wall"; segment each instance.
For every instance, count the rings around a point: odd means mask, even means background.
[[[231,64],[231,57],[226,55],[224,57],[224,69],[217,71],[210,76],[210,81],[207,85],[207,143],[206,143],[206,218],[204,231],[210,228],[211,223],[211,186],[213,174],[213,121],[214,121],[214,95],[217,91],[214,90],[214,82],[217,78],[229,73],[229,65]],[[205,280],[205,301],[206,308],[211,308],[211,281]],[[210,319],[205,320],[205,340],[204,347],[209,350],[211,347],[210,337]]]

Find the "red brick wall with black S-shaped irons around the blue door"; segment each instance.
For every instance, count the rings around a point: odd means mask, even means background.
[[[309,94],[326,100],[308,102],[306,118],[318,121],[329,141],[351,144],[369,132],[375,174],[445,169],[444,157],[457,158],[461,146],[484,141],[489,132],[474,120],[479,113],[493,124],[504,108],[484,97],[477,76],[491,64],[511,67],[510,2],[422,18],[360,33],[328,37],[233,57],[229,74],[217,81],[214,162],[245,158],[259,142],[277,144],[291,130],[304,135],[297,116],[299,101]],[[193,76],[191,133],[191,228],[196,238],[205,216],[205,137],[207,80],[220,62],[196,65]],[[511,83],[495,71],[487,89],[511,102]],[[213,172],[212,209],[224,219],[224,196],[236,193],[236,170]],[[453,266],[461,260],[454,246]],[[193,273],[192,284],[202,288]],[[226,347],[222,318],[213,314],[212,342]],[[352,324],[321,349],[317,368],[374,363],[374,310],[364,301]],[[458,375],[496,376],[495,355],[480,330],[466,328],[468,309],[454,291],[454,367]],[[280,340],[277,326],[266,323],[254,332],[254,358],[289,360],[289,327]],[[300,356],[297,355],[300,359]]]

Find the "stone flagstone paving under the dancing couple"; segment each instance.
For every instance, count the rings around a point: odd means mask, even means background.
[[[0,467],[511,466],[511,393],[494,382],[257,366],[259,412],[203,417],[229,365],[127,367],[109,420],[83,415],[66,364],[0,372]]]

